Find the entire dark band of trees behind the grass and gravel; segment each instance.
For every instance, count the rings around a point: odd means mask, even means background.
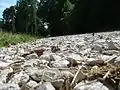
[[[18,0],[3,12],[2,28],[42,36],[120,28],[118,0]]]

